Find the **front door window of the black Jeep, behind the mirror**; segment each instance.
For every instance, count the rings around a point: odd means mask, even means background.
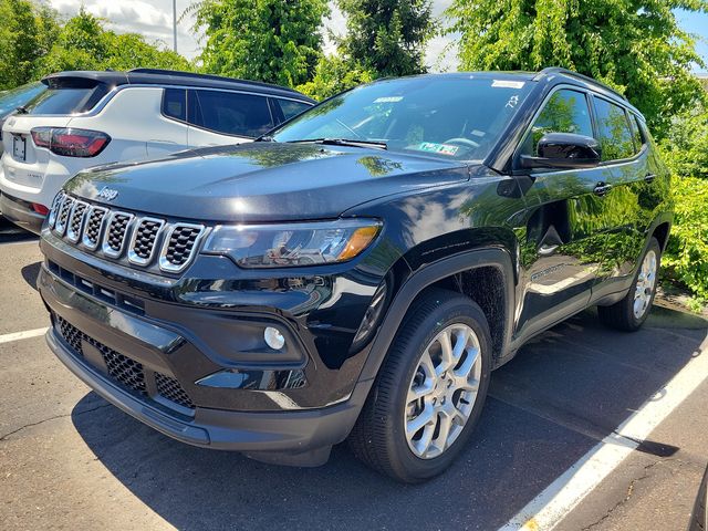
[[[585,94],[562,88],[553,93],[523,140],[522,154],[535,156],[539,140],[546,133],[575,133],[593,136]]]

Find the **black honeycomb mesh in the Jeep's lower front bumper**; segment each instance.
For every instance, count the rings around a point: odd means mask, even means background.
[[[59,315],[55,315],[54,319],[54,326],[56,331],[69,344],[72,351],[74,351],[75,355],[83,357],[83,342],[86,342],[98,350],[103,356],[106,367],[108,368],[108,377],[114,382],[117,382],[123,387],[147,397],[146,379],[154,377],[155,387],[160,396],[178,404],[179,406],[194,409],[195,405],[189,398],[189,395],[175,378],[160,373],[146,372],[143,364],[139,362],[124,356],[103,343],[90,337]]]

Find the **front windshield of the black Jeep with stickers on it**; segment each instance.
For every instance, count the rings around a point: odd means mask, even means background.
[[[383,142],[389,150],[482,159],[528,93],[524,81],[473,74],[379,81],[306,111],[272,138]]]

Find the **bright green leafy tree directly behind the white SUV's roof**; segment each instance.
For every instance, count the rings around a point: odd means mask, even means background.
[[[189,10],[205,32],[206,72],[288,86],[314,75],[325,0],[205,0]]]

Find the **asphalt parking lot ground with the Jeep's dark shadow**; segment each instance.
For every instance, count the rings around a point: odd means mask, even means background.
[[[281,468],[191,448],[137,423],[45,346],[39,263],[35,239],[0,230],[2,529],[496,530],[558,478],[574,476],[566,471],[646,404],[670,399],[669,381],[686,377],[695,383],[686,398],[665,408],[648,437],[554,523],[688,524],[708,460],[708,382],[694,368],[702,367],[696,363],[708,341],[698,317],[658,309],[644,330],[622,334],[589,311],[544,333],[494,373],[482,421],[457,466],[426,485],[402,486],[364,468],[346,447],[321,468]],[[9,335],[21,332],[27,336]],[[551,493],[558,501],[564,492]]]

